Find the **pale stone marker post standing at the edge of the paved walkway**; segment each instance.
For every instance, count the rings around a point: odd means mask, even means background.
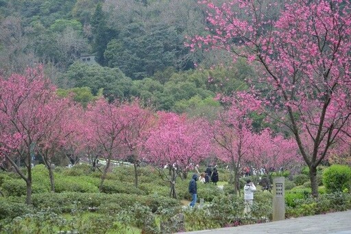
[[[273,221],[285,220],[285,178],[273,179]]]

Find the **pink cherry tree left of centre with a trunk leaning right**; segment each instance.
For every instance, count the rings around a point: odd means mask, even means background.
[[[104,99],[99,99],[95,104],[88,106],[86,117],[93,135],[93,145],[97,147],[99,156],[106,159],[106,166],[101,175],[99,190],[104,185],[106,174],[110,167],[111,159],[121,159],[121,146],[123,145],[122,130],[127,125],[127,120],[119,103],[108,103]]]

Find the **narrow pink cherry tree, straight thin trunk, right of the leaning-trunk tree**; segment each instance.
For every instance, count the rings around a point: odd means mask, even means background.
[[[138,187],[138,164],[140,163],[140,154],[143,150],[143,139],[145,139],[147,130],[152,127],[153,113],[149,108],[142,108],[138,100],[121,105],[125,115],[126,125],[122,130],[123,144],[128,148],[129,160],[134,164],[134,183]]]

